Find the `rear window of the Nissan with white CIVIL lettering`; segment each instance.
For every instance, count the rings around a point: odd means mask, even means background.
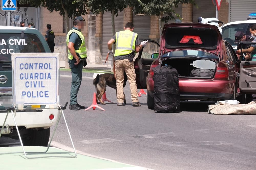
[[[11,62],[12,53],[45,53],[39,38],[34,34],[0,33],[0,62]]]

